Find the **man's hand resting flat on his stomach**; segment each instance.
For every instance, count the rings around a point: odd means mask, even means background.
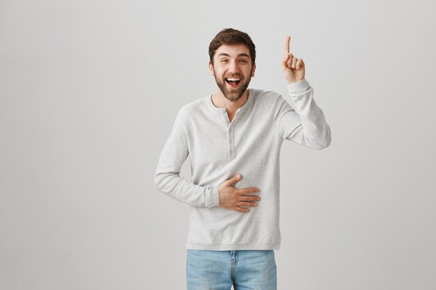
[[[242,212],[248,212],[247,207],[256,207],[256,201],[259,201],[260,198],[250,194],[258,192],[258,188],[234,188],[233,184],[239,182],[240,179],[241,176],[236,175],[218,186],[220,207]]]

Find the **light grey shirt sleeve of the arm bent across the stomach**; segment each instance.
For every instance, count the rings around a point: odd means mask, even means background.
[[[155,184],[159,191],[195,207],[219,205],[218,188],[198,186],[180,177],[180,168],[189,154],[187,134],[179,111],[171,134],[157,163]]]

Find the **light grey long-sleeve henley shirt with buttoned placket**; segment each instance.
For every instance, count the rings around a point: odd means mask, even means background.
[[[330,144],[325,115],[306,79],[288,85],[295,110],[276,92],[249,89],[232,122],[211,95],[183,106],[155,172],[159,191],[190,204],[187,248],[278,250],[279,154],[283,140],[323,149]],[[180,177],[189,156],[192,182]],[[219,207],[217,187],[236,174],[235,188],[256,187],[248,213]]]

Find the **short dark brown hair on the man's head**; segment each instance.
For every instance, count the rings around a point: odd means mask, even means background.
[[[213,57],[215,56],[215,51],[217,51],[218,47],[221,47],[221,45],[239,44],[247,46],[250,51],[251,65],[254,65],[254,61],[256,61],[256,47],[254,46],[254,43],[247,33],[236,29],[223,29],[219,31],[214,39],[212,39],[209,45],[209,57],[212,65]]]

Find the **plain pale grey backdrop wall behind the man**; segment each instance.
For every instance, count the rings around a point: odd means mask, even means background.
[[[189,207],[153,174],[178,109],[216,91],[225,27],[257,46],[250,87],[283,95],[291,35],[332,128],[283,143],[279,289],[436,289],[434,11],[0,1],[0,289],[185,289]]]

